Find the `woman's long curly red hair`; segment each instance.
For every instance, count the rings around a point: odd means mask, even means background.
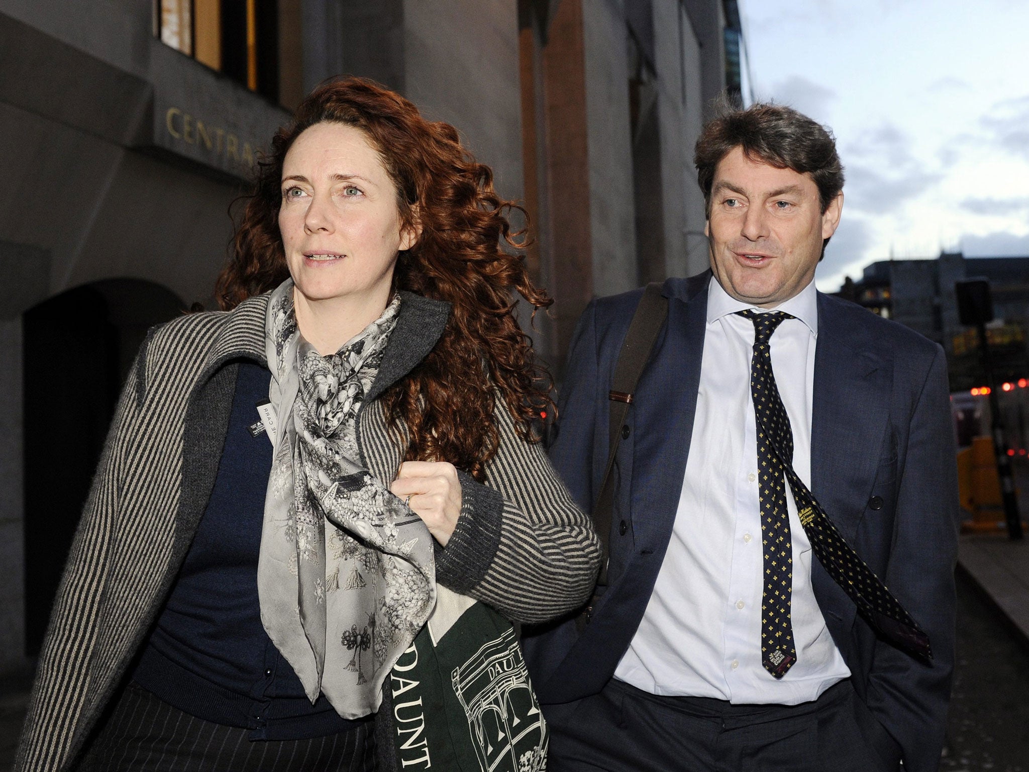
[[[501,199],[493,172],[461,145],[449,124],[429,121],[395,92],[363,78],[323,83],[304,100],[288,127],[260,159],[255,187],[217,281],[223,310],[281,284],[289,272],[279,233],[282,165],[293,141],[322,121],[360,129],[393,180],[405,226],[417,217],[418,243],[400,252],[396,289],[447,301],[451,316],[432,352],[383,394],[392,426],[410,435],[406,460],[450,461],[477,480],[496,453],[499,393],[520,434],[537,442],[540,411],[554,409],[553,383],[514,317],[517,291],[533,315],[553,300],[536,287],[507,213],[524,210]]]

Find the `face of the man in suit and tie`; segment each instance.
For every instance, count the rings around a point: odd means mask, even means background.
[[[751,161],[739,147],[714,172],[705,233],[711,270],[730,295],[774,308],[815,276],[822,240],[836,232],[841,192],[823,213],[810,174]]]

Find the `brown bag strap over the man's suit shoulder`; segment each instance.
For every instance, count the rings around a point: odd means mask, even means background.
[[[611,473],[614,468],[614,457],[618,452],[618,444],[622,442],[622,427],[626,424],[629,415],[629,406],[632,405],[636,392],[636,384],[639,383],[640,376],[643,375],[643,367],[646,366],[647,359],[654,343],[658,341],[658,334],[668,318],[668,299],[661,293],[662,284],[651,282],[647,284],[636,307],[633,320],[629,323],[629,331],[626,334],[625,343],[618,352],[618,360],[614,365],[614,376],[611,379],[611,391],[608,393],[608,403],[610,406],[609,426],[608,426],[608,452],[607,464],[604,467],[604,478],[600,484],[600,493],[597,496],[597,503],[593,507],[593,524],[600,536],[601,543],[601,568],[599,585],[607,584],[607,562],[610,557],[611,539],[611,518],[614,512],[614,476]],[[591,603],[592,606],[592,603]]]

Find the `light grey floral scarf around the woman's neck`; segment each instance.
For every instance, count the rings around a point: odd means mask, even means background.
[[[265,352],[274,451],[257,591],[264,629],[314,702],[356,718],[436,599],[432,537],[360,462],[356,418],[400,299],[335,354],[305,341],[293,282],[269,299]]]

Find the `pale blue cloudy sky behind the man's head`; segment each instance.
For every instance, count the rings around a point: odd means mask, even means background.
[[[1029,255],[1029,0],[739,0],[754,96],[832,129],[817,283],[892,256]]]

